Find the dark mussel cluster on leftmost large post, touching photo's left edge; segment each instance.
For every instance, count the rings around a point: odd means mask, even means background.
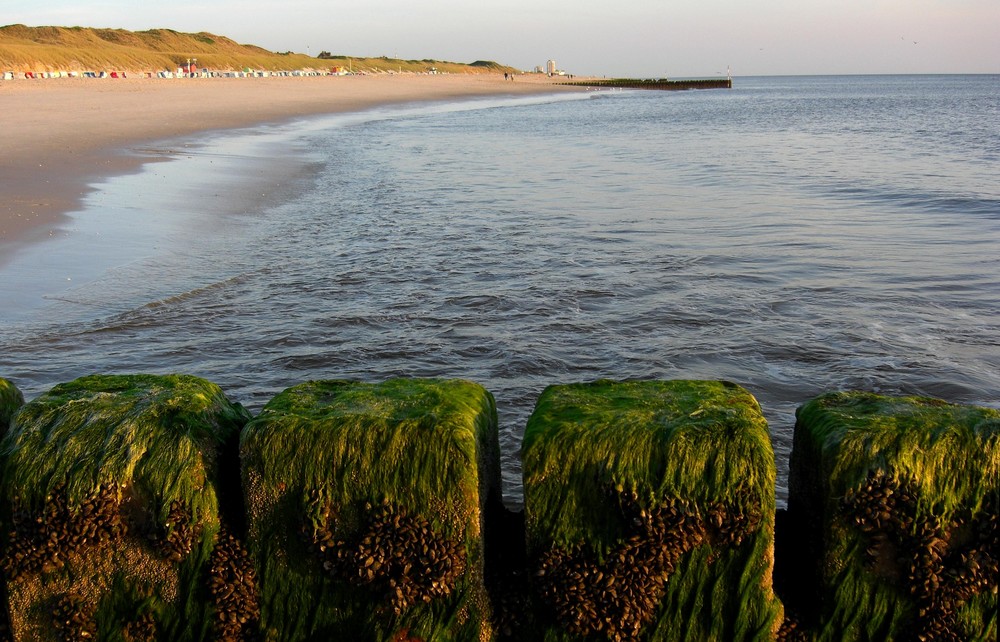
[[[11,528],[0,559],[8,581],[62,567],[73,555],[115,541],[127,530],[119,513],[122,489],[105,485],[73,504],[64,487],[50,493],[41,512],[12,501]]]

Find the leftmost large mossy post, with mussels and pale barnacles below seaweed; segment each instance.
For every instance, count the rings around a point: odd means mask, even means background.
[[[249,419],[183,375],[83,377],[22,406],[0,444],[13,639],[215,639],[219,447]]]

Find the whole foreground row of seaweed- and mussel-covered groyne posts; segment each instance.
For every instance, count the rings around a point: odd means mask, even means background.
[[[0,379],[13,640],[995,639],[1000,411],[721,381],[554,385],[500,502],[463,380]]]

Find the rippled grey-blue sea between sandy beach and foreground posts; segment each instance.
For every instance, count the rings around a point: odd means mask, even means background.
[[[873,390],[1000,407],[1000,76],[737,78],[167,141],[0,257],[0,376],[184,372],[497,399],[505,495],[549,384],[726,379],[768,419]]]

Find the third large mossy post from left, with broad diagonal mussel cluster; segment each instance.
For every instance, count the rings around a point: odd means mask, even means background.
[[[551,386],[522,456],[539,637],[773,639],[774,455],[747,391]]]

